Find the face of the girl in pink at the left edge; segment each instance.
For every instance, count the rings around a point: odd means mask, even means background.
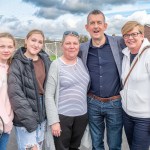
[[[13,39],[0,37],[0,63],[7,63],[14,51],[15,44]]]

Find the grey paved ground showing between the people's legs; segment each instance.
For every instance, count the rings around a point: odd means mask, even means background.
[[[16,144],[16,138],[15,138],[14,130],[12,131],[12,133],[10,135],[10,141],[8,143],[7,150],[17,150],[17,144]],[[87,150],[87,149],[82,148],[81,150]],[[107,145],[106,145],[106,150],[108,150]],[[126,137],[125,137],[124,133],[123,133],[122,150],[129,150],[128,145],[127,145],[127,141],[126,141]]]

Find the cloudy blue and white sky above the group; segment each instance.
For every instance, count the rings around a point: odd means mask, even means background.
[[[94,9],[106,16],[106,34],[120,35],[129,20],[150,24],[150,0],[0,0],[0,32],[24,38],[40,29],[51,40],[59,40],[66,30],[88,35],[87,15]]]

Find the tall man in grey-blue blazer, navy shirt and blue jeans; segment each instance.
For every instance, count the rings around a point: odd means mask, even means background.
[[[104,130],[107,130],[109,150],[121,150],[122,107],[121,63],[123,39],[108,36],[105,16],[100,10],[88,14],[86,30],[91,39],[81,44],[79,56],[90,74],[88,114],[92,149],[104,150]]]

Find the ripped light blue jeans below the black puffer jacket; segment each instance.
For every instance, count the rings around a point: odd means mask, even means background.
[[[15,127],[18,150],[32,149],[35,145],[42,150],[46,121],[38,125],[38,128],[29,133],[25,127]]]

